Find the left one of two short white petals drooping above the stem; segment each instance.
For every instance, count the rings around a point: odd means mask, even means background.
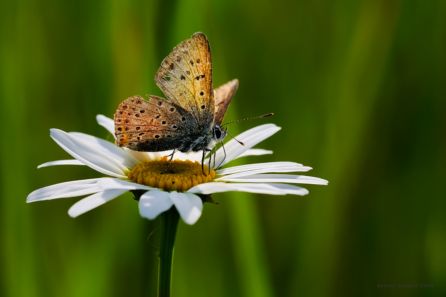
[[[156,190],[144,193],[139,199],[139,213],[149,220],[155,219],[160,213],[172,207],[169,193]]]

